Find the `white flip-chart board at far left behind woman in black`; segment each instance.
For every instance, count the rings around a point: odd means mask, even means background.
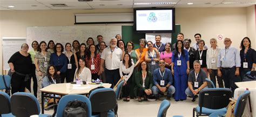
[[[25,37],[3,37],[3,70],[9,70],[8,60],[26,43]]]

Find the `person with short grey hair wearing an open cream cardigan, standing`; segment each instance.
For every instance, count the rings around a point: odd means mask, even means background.
[[[220,88],[223,88],[223,79],[218,76],[217,59],[220,49],[217,47],[217,40],[210,39],[211,49],[207,50],[206,53],[206,64],[210,74],[210,78],[216,87],[216,77]]]

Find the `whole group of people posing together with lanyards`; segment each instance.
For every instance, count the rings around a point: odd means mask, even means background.
[[[207,88],[208,75],[215,86],[217,79],[219,87],[231,88],[235,75],[243,78],[246,72],[254,71],[255,50],[248,37],[242,39],[240,53],[231,46],[230,38],[225,38],[225,49],[220,49],[214,38],[208,48],[199,33],[194,37],[197,43],[193,47],[191,39],[184,39],[183,33],[177,35],[174,44],[161,43],[160,35],[155,36],[156,43],[142,38],[135,50],[133,42],[125,43],[120,35],[111,38],[109,46],[101,35],[97,36],[97,45],[91,37],[86,44],[74,40],[65,47],[52,40],[48,44],[44,41],[38,44],[35,40],[30,52],[29,45],[22,44],[21,50],[8,61],[13,73],[11,93],[24,92],[25,87],[31,91],[31,77],[34,95],[39,100],[38,90],[65,80],[80,79],[88,84],[100,79],[113,87],[122,78],[124,101],[138,97],[141,102],[152,95],[159,101],[164,92],[168,100],[174,94],[176,101],[186,100],[187,95],[194,101],[199,91]]]

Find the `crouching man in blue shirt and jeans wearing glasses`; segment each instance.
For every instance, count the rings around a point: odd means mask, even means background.
[[[171,95],[175,93],[175,88],[172,85],[173,79],[171,70],[165,68],[164,60],[160,60],[158,65],[160,68],[154,70],[153,73],[153,95],[155,95],[156,101],[159,101],[159,93],[164,93],[167,91],[167,100],[170,100]]]

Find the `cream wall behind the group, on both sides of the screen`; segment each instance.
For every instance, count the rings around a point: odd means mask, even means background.
[[[176,24],[181,25],[185,38],[201,33],[209,44],[210,38],[218,34],[230,37],[232,45],[239,47],[242,38],[251,35],[252,8],[176,8]],[[96,10],[40,10],[40,11],[0,11],[0,37],[26,37],[27,26],[68,26],[74,25],[75,13],[132,13],[133,9],[96,9]],[[255,16],[255,15],[254,15]],[[251,19],[250,19],[251,21]],[[254,22],[255,25],[255,22]],[[255,35],[255,33],[254,33]],[[252,37],[251,37],[252,38]],[[255,41],[254,41],[255,42]],[[223,42],[218,45],[223,47]],[[0,39],[0,55],[2,55],[2,39]],[[2,61],[2,56],[0,56]],[[2,72],[2,62],[0,63]]]

